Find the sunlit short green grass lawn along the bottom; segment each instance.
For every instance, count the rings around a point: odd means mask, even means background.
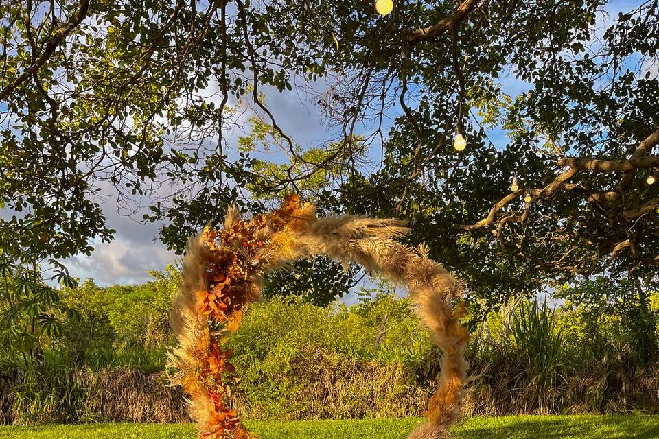
[[[262,439],[403,439],[423,420],[253,421]],[[656,439],[659,416],[502,416],[470,418],[454,428],[461,439]],[[0,439],[192,439],[190,424],[99,424],[0,427]]]

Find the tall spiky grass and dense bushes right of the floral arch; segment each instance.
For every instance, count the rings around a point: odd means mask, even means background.
[[[656,318],[658,310],[649,310]],[[470,344],[478,414],[656,413],[659,364],[630,344],[634,327],[612,308],[592,326],[585,305],[522,301],[483,322]],[[591,316],[592,317],[592,316]],[[656,327],[653,337],[657,337]]]

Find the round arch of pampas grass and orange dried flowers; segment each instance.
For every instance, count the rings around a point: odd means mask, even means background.
[[[183,259],[183,283],[172,312],[178,346],[170,355],[176,370],[172,383],[182,385],[199,437],[246,439],[235,410],[227,405],[233,366],[230,351],[222,350],[227,337],[238,330],[244,306],[260,295],[262,276],[301,257],[325,254],[343,262],[356,262],[406,285],[418,305],[421,321],[432,341],[443,350],[437,390],[428,403],[428,421],[411,439],[450,438],[448,427],[459,417],[465,391],[468,333],[459,320],[463,286],[421,245],[401,244],[408,229],[395,219],[354,215],[318,218],[314,206],[289,195],[282,206],[240,219],[229,209],[222,230],[206,227],[189,240]]]

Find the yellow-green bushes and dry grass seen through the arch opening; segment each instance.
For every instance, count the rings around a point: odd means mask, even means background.
[[[362,418],[419,413],[415,366],[431,345],[406,299],[347,309],[275,299],[231,338],[249,418]]]

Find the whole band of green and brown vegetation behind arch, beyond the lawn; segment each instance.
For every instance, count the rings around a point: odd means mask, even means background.
[[[5,351],[2,422],[185,422],[164,369],[178,281],[170,267],[143,285],[59,289],[76,315],[35,337],[32,356]],[[633,285],[601,278],[555,296],[467,316],[478,373],[467,414],[659,412],[659,293],[645,309]],[[386,284],[362,288],[351,307],[271,297],[249,309],[229,348],[242,378],[233,403],[246,418],[277,420],[420,416],[440,355]]]

